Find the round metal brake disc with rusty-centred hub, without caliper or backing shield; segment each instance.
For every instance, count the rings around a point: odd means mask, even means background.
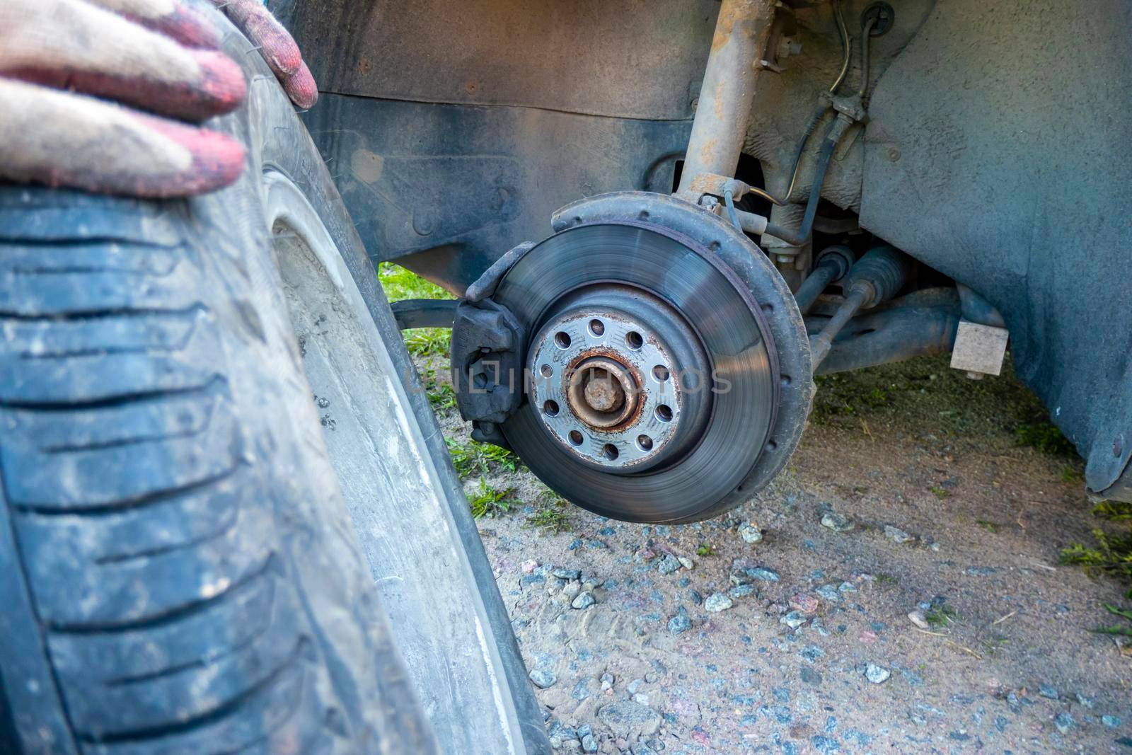
[[[778,359],[714,254],[648,223],[580,225],[523,256],[494,299],[532,334],[504,436],[559,495],[618,520],[691,521],[751,473]]]

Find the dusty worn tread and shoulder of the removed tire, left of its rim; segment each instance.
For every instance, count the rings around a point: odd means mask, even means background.
[[[256,66],[234,187],[0,187],[0,753],[432,749],[263,228],[265,129],[321,163]]]

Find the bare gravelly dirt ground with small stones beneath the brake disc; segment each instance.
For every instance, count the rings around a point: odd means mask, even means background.
[[[471,498],[513,501],[480,534],[551,743],[1132,752],[1132,654],[1092,632],[1125,587],[1057,565],[1096,522],[1080,460],[1019,445],[1044,418],[1009,374],[943,359],[825,378],[788,470],[679,526],[555,503],[521,465],[468,471]]]

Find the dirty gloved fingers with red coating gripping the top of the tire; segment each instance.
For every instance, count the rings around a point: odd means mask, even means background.
[[[213,1],[292,101],[314,104],[310,71],[271,14],[255,0]],[[172,120],[200,122],[246,97],[220,41],[185,0],[0,0],[0,177],[138,197],[235,181],[238,141]]]

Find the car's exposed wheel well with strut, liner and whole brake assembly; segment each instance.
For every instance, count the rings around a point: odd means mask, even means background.
[[[455,320],[465,418],[571,500],[712,515],[813,375],[997,374],[1007,334],[1090,491],[1132,497],[1126,3],[272,5],[372,259],[465,297],[402,324]]]

